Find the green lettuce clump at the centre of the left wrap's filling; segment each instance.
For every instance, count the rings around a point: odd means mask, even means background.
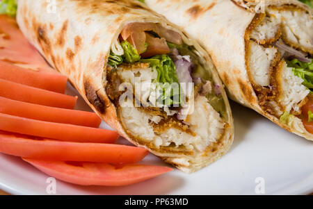
[[[162,54],[152,56],[149,59],[142,59],[141,62],[149,62],[150,67],[157,71],[157,78],[154,82],[157,83],[157,89],[162,92],[157,101],[165,106],[179,106],[182,103],[182,98],[176,67],[172,59],[168,55]]]

